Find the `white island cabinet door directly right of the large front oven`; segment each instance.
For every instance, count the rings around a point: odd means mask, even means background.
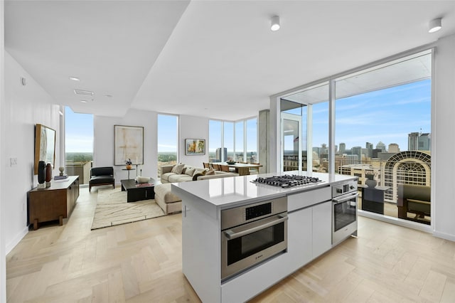
[[[288,263],[295,270],[312,259],[312,211],[311,208],[304,208],[288,213],[288,217]]]

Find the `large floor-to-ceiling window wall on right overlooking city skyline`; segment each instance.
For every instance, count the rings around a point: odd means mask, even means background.
[[[323,90],[311,92],[313,87]],[[281,98],[307,106],[302,117],[306,112],[312,171],[358,176],[361,211],[430,223],[432,50]],[[372,201],[380,207],[367,206]]]

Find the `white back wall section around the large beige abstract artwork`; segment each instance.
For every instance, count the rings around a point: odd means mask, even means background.
[[[128,110],[124,117],[93,117],[94,150],[93,166],[114,166],[114,125],[144,127],[144,165],[142,176],[156,178],[156,112],[146,110]],[[127,179],[128,172],[123,171],[125,166],[114,166],[115,183]],[[133,166],[135,169],[136,167]],[[137,171],[130,171],[131,179],[136,177]],[[138,172],[139,174],[139,172]]]

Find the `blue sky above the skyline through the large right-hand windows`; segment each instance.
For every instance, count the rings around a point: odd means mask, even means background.
[[[314,106],[313,147],[328,144],[328,103]],[[335,144],[366,142],[407,150],[410,132],[431,132],[431,80],[422,80],[336,100]]]

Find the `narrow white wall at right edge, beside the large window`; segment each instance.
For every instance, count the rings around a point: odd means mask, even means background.
[[[455,35],[437,43],[434,64],[434,235],[455,241]]]

